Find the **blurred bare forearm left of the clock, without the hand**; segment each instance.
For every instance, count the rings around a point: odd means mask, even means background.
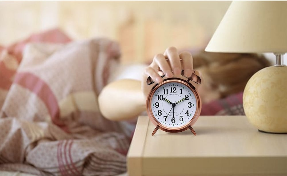
[[[100,111],[110,120],[128,120],[146,109],[146,100],[137,80],[118,80],[104,87],[98,98]]]

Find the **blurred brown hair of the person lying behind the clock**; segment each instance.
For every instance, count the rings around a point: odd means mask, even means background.
[[[193,56],[193,67],[201,70],[205,84],[218,91],[220,98],[243,92],[251,76],[267,66],[269,61],[258,54],[201,51]]]

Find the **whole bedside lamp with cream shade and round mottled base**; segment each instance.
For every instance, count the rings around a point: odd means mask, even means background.
[[[274,53],[276,65],[247,82],[243,108],[259,131],[287,133],[287,1],[233,1],[205,51]]]

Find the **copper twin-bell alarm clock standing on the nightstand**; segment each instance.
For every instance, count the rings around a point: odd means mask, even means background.
[[[158,68],[160,76],[164,74]],[[146,110],[150,120],[156,126],[152,135],[158,129],[166,132],[177,133],[187,129],[196,135],[192,125],[196,122],[201,112],[201,99],[191,81],[201,84],[201,79],[193,70],[190,77],[181,75],[181,78],[167,78],[159,84],[155,84],[150,90],[146,100]],[[154,81],[148,77],[147,84],[151,85]]]

